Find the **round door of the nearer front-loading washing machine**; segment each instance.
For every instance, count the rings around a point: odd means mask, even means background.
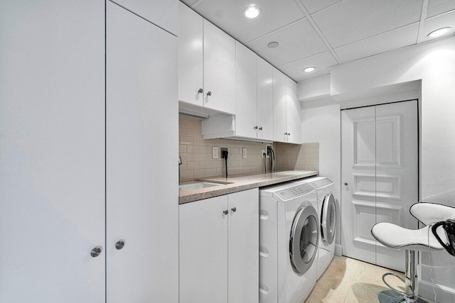
[[[298,275],[311,268],[319,241],[318,214],[313,206],[302,206],[296,211],[289,240],[291,265]]]

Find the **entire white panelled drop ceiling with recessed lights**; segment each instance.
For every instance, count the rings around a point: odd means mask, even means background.
[[[455,0],[182,0],[295,81],[330,67],[455,33]],[[261,10],[247,19],[243,10]],[[276,41],[277,48],[267,44]],[[314,72],[304,72],[315,66]]]

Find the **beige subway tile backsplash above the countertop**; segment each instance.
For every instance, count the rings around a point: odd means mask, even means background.
[[[178,124],[179,155],[182,158],[182,165],[180,165],[181,182],[195,178],[225,175],[225,160],[220,158],[220,148],[228,148],[229,175],[264,171],[262,150],[266,149],[265,143],[226,139],[204,140],[202,138],[202,121],[179,116]],[[213,147],[218,147],[218,159],[212,158]],[[242,158],[243,148],[247,148],[246,159]],[[314,167],[319,168],[319,143],[303,145],[274,143],[272,148],[277,159],[276,170],[314,170]],[[315,165],[315,162],[318,163]],[[269,158],[266,159],[266,165],[267,171],[269,171]]]

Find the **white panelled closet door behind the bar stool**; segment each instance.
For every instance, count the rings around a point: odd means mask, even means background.
[[[390,222],[417,228],[417,101],[349,109],[342,114],[343,255],[404,270],[404,255],[375,241],[371,228]]]

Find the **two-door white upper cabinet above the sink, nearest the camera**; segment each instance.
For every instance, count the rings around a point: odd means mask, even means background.
[[[178,100],[235,114],[235,40],[178,5]]]

